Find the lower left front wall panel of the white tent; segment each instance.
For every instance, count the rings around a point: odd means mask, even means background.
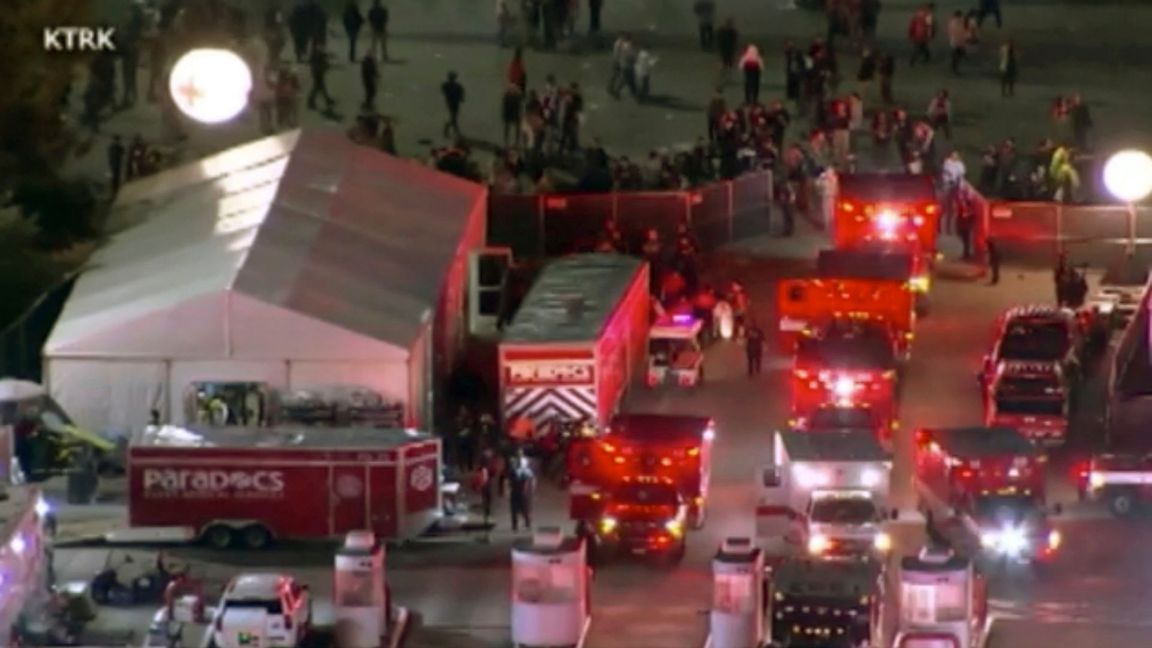
[[[169,363],[131,359],[45,359],[45,384],[79,425],[129,434],[146,425],[149,414],[165,414]]]

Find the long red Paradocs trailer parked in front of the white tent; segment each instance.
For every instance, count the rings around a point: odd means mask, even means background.
[[[122,536],[219,549],[359,529],[402,540],[435,523],[439,485],[440,440],[415,430],[151,427],[128,450]]]

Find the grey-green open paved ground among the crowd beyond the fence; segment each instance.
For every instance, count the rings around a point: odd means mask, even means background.
[[[338,0],[325,0],[332,8],[332,29],[339,27]],[[106,15],[122,10],[122,2],[98,0]],[[397,145],[407,156],[426,156],[431,142],[440,142],[444,121],[439,82],[450,69],[461,75],[468,90],[462,125],[467,134],[492,141],[499,128],[499,99],[503,88],[509,50],[495,44],[493,2],[464,0],[394,0],[394,61],[382,71],[382,108],[399,120]],[[513,3],[515,5],[515,2]],[[765,52],[767,98],[780,97],[782,62],[780,52],[788,39],[808,42],[825,31],[824,18],[812,12],[787,10],[782,0],[725,0],[721,13],[735,17],[742,39],[757,43]],[[931,95],[948,88],[955,97],[956,142],[970,152],[975,172],[980,146],[1006,136],[1016,136],[1022,146],[1031,146],[1045,136],[1059,136],[1048,119],[1048,105],[1058,95],[1079,91],[1094,111],[1100,148],[1152,145],[1152,129],[1143,107],[1152,101],[1152,70],[1139,62],[1152,55],[1145,38],[1152,25],[1152,7],[1132,1],[1006,0],[1006,25],[996,30],[986,24],[985,45],[973,53],[963,76],[955,78],[946,68],[943,18],[971,2],[938,2],[941,40],[935,45],[938,60],[931,66],[909,68],[904,33],[908,15],[916,0],[889,0],[880,21],[880,48],[897,54],[896,96],[910,112],[923,112]],[[253,10],[253,14],[256,12]],[[581,23],[586,25],[586,15]],[[579,82],[585,90],[588,121],[585,138],[599,137],[612,150],[630,156],[692,142],[704,133],[703,107],[717,84],[717,61],[700,52],[694,42],[695,25],[690,3],[669,6],[659,0],[607,2],[604,24],[606,38],[630,31],[660,59],[653,73],[654,100],[637,105],[631,99],[615,100],[606,92],[609,62],[607,43],[581,39],[574,52],[526,53],[529,84],[540,86],[554,74],[567,83]],[[1100,36],[1094,43],[1082,40]],[[993,50],[1003,38],[1017,42],[1021,82],[1017,97],[1001,99],[995,80]],[[334,33],[334,50],[343,52],[342,33]],[[598,46],[604,45],[604,46]],[[857,60],[841,54],[846,83],[841,91],[855,88]],[[343,118],[355,114],[359,101],[358,71],[347,62],[332,74],[331,86]],[[735,100],[738,88],[730,86]],[[344,128],[317,113],[304,116],[306,126]],[[78,164],[104,175],[104,145],[111,133],[143,133],[158,136],[158,118],[151,106],[123,112],[111,120],[105,136]],[[798,128],[794,128],[799,133]],[[192,138],[183,156],[200,153],[245,141],[257,135],[255,119],[220,128],[190,129]],[[795,134],[794,134],[795,135]]]

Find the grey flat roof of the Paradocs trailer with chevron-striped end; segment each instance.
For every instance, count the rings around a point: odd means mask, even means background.
[[[573,255],[550,263],[537,277],[505,342],[596,340],[645,263],[616,254]]]

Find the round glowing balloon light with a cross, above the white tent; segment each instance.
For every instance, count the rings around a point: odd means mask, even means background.
[[[191,50],[172,67],[168,91],[180,112],[190,119],[221,123],[248,107],[252,70],[235,52]]]

